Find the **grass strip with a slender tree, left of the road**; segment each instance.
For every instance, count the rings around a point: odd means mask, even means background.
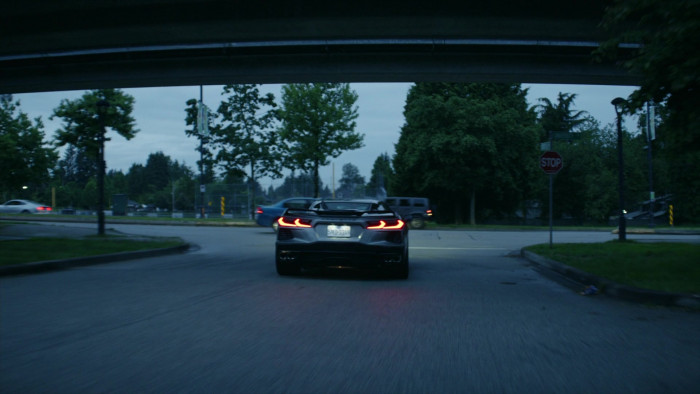
[[[62,260],[103,254],[180,246],[179,238],[130,239],[125,237],[30,238],[0,241],[0,265]]]

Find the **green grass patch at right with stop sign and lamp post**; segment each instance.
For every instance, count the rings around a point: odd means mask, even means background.
[[[700,245],[610,241],[526,248],[540,256],[642,289],[700,294]]]

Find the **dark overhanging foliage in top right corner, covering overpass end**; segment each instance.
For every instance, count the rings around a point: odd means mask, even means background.
[[[700,150],[700,2],[697,0],[616,0],[602,26],[610,39],[596,55],[622,63],[641,77],[629,109],[647,102],[667,107],[667,143]],[[697,172],[696,172],[697,173]]]

